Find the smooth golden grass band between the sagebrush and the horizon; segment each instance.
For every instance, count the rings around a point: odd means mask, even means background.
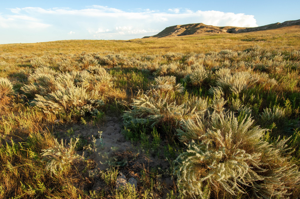
[[[209,52],[222,49],[245,50],[252,46],[278,50],[300,48],[300,26],[241,34],[188,35],[171,38],[132,40],[62,40],[42,43],[1,44],[1,53],[30,58],[35,55],[59,55],[85,52],[135,52],[160,54],[166,52]],[[250,40],[250,41],[247,41]]]

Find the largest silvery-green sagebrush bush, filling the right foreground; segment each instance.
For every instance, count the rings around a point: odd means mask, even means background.
[[[250,117],[238,121],[232,113],[214,112],[206,120],[205,125],[187,120],[181,132],[196,138],[176,159],[174,174],[185,194],[204,198],[210,191],[223,190],[270,198],[287,196],[299,184],[300,172],[289,161],[287,140],[273,145],[263,141],[265,129],[253,127]]]

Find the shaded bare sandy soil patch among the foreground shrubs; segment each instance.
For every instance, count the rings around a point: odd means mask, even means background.
[[[93,137],[95,137],[94,148],[83,149],[79,151],[79,155],[84,154],[84,157],[93,164],[92,169],[89,172],[89,180],[86,180],[88,190],[91,191],[108,191],[107,185],[101,180],[100,173],[112,166],[118,168],[119,172],[122,172],[125,177],[130,179],[131,177],[137,180],[137,191],[143,193],[146,189],[145,175],[148,177],[151,175],[152,169],[160,171],[156,177],[156,183],[160,183],[162,189],[154,190],[154,198],[165,198],[167,193],[172,189],[176,189],[176,182],[172,179],[170,173],[166,172],[169,169],[169,162],[164,159],[164,152],[161,151],[161,155],[158,157],[151,152],[145,153],[141,150],[140,142],[131,143],[127,141],[122,135],[122,117],[107,114],[106,121],[103,126],[91,126],[91,125],[74,125],[74,136],[84,138],[87,143],[93,143]],[[101,137],[100,134],[101,133]],[[162,141],[162,144],[164,141]],[[119,165],[116,167],[116,165]],[[142,180],[142,173],[144,179]]]

